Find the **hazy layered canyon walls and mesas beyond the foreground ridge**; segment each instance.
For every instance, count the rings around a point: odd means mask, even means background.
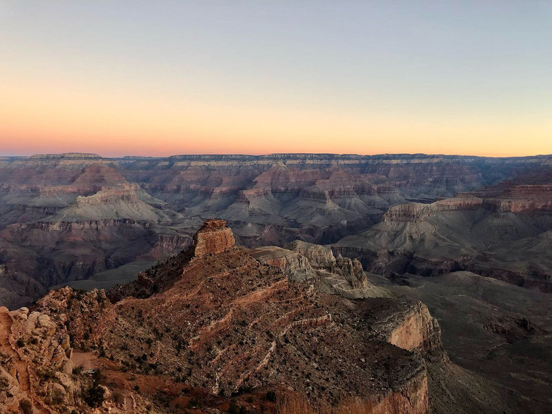
[[[432,242],[423,239],[433,237],[435,252],[445,253],[444,268],[546,290],[551,160],[324,154],[2,157],[0,303],[27,306],[50,286],[98,274],[103,282],[128,279],[129,268],[147,268],[188,246],[208,217],[226,219],[243,246],[283,247],[296,239],[339,242],[344,257],[357,257],[378,271],[435,273],[441,265],[431,262]],[[479,207],[442,210],[449,201],[437,200],[458,195],[479,200]],[[413,215],[420,217],[411,225]],[[429,222],[432,217],[436,223]],[[471,226],[477,234],[466,235]],[[452,237],[457,228],[462,231]],[[495,239],[503,244],[494,245]],[[511,251],[522,252],[516,257],[516,263],[522,259],[521,270],[502,266]],[[527,262],[529,253],[544,260]],[[397,265],[397,257],[411,264]]]

